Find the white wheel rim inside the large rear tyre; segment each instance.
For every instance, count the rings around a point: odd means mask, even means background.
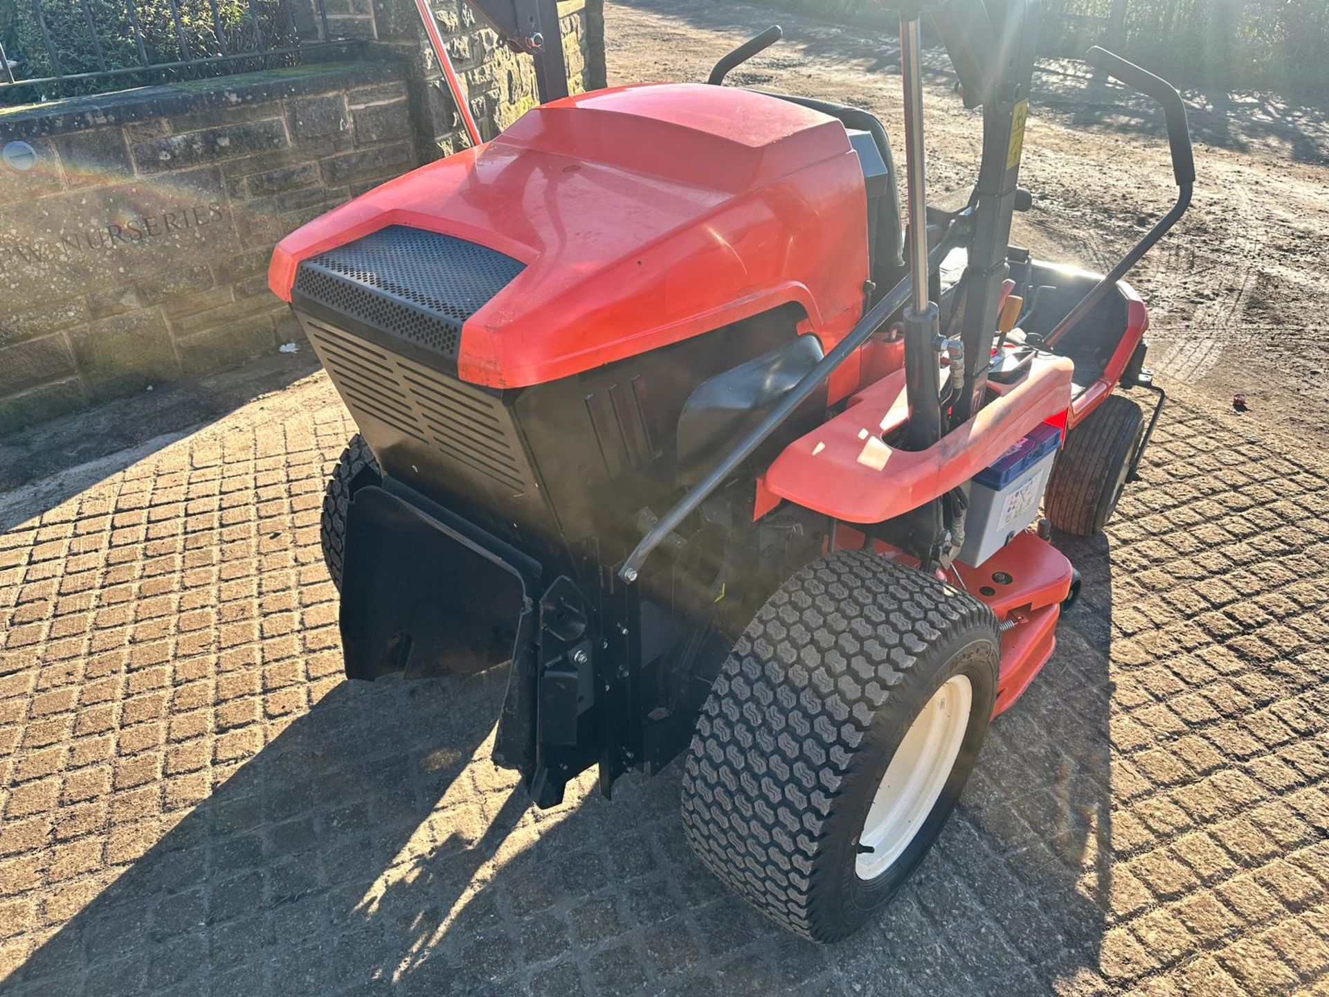
[[[969,728],[974,687],[953,675],[933,693],[881,776],[859,835],[859,879],[876,879],[904,853],[937,806]]]

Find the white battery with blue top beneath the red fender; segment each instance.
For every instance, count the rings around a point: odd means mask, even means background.
[[[960,560],[978,566],[1038,516],[1062,431],[1046,423],[969,483],[969,513]]]

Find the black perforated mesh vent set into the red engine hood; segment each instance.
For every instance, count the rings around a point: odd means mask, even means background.
[[[485,246],[393,225],[304,261],[295,290],[452,359],[462,323],[522,270]]]

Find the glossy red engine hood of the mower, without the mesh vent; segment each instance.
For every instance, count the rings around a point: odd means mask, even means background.
[[[492,142],[296,230],[276,247],[268,283],[290,300],[302,259],[388,225],[526,265],[461,330],[459,376],[494,388],[565,378],[791,302],[807,315],[800,331],[829,350],[861,314],[868,278],[867,191],[844,126],[700,84],[534,108]]]

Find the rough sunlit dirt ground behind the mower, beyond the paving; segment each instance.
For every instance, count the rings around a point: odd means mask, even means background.
[[[730,74],[744,86],[824,97],[878,114],[901,156],[893,32],[868,37],[787,11],[698,0],[611,0],[609,82],[704,80],[719,56],[768,24],[785,37]],[[981,112],[929,53],[929,199],[968,197]],[[1083,64],[1049,60],[1034,78],[1022,186],[1034,207],[1014,238],[1037,255],[1107,270],[1164,211],[1176,187],[1162,112]],[[1187,92],[1199,179],[1176,229],[1132,271],[1150,310],[1148,364],[1280,433],[1329,441],[1329,116],[1276,94]]]

